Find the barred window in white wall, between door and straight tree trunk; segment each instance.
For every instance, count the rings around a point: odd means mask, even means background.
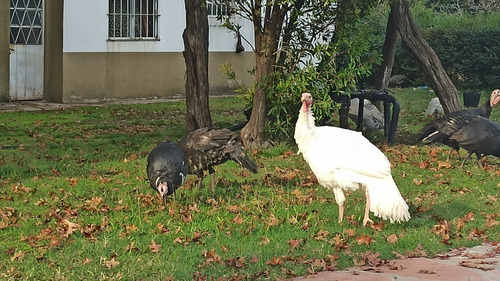
[[[109,0],[110,40],[158,40],[158,0]]]

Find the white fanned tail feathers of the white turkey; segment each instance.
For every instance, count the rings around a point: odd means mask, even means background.
[[[392,177],[373,179],[365,185],[370,196],[370,211],[377,217],[394,222],[410,219],[408,205],[401,196]]]

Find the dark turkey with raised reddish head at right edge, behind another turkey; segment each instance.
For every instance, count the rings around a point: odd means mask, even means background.
[[[450,113],[448,116],[439,118],[432,122],[431,124],[425,126],[422,128],[419,133],[418,133],[418,140],[422,141],[427,138],[430,134],[434,133],[439,129],[439,127],[443,126],[450,117],[456,117],[456,116],[465,116],[465,115],[478,115],[482,116],[485,118],[490,118],[491,115],[491,110],[494,105],[496,105],[500,101],[500,90],[495,89],[493,92],[491,92],[490,99],[481,107],[478,107],[476,109],[463,109],[463,110],[458,110]],[[450,152],[448,153],[447,161],[450,159],[450,155],[453,151],[456,151],[457,154],[460,157],[459,150],[460,146],[458,143],[454,140],[450,140],[449,138],[441,138],[440,141],[444,145],[449,146]]]

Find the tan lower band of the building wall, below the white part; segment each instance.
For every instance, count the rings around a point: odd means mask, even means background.
[[[210,94],[227,94],[234,83],[219,71],[233,64],[237,79],[250,86],[254,54],[209,55]],[[64,53],[63,102],[98,102],[110,99],[183,97],[185,64],[182,53]]]

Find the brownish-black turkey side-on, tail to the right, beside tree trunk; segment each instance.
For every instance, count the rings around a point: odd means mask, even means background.
[[[215,186],[214,166],[233,160],[243,168],[257,173],[257,164],[250,159],[237,135],[228,129],[200,128],[182,138],[179,147],[187,158],[188,173],[198,176],[198,187],[205,171],[212,177]]]

